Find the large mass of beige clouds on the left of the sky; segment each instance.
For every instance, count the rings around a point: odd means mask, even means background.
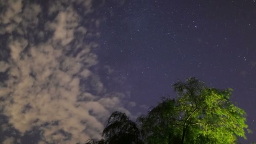
[[[0,15],[0,29],[8,34],[10,57],[0,60],[0,72],[8,76],[0,81],[0,107],[21,136],[37,128],[41,131],[40,144],[100,139],[103,122],[111,112],[131,115],[123,107],[125,95],[107,91],[98,72],[91,70],[98,64],[93,53],[97,44],[84,39],[98,34],[93,27],[81,24],[82,17],[72,7],[72,3],[81,4],[83,14],[90,13],[91,0],[51,2],[47,13],[53,17],[51,21],[38,18],[44,13],[38,4],[2,2],[6,11]],[[100,21],[93,24],[98,27]],[[35,37],[43,40],[36,42]],[[112,71],[110,67],[108,70]],[[12,141],[18,140],[5,139],[5,143]]]

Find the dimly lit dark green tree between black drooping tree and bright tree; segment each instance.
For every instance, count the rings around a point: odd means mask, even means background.
[[[175,100],[163,98],[147,116],[137,119],[140,123],[141,135],[147,144],[180,144],[179,133],[173,119],[178,115],[175,110]]]

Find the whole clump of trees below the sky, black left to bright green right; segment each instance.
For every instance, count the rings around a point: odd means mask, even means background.
[[[246,113],[230,101],[231,88],[209,88],[195,77],[173,87],[176,99],[164,97],[136,122],[113,112],[102,143],[88,144],[233,144],[246,139]]]

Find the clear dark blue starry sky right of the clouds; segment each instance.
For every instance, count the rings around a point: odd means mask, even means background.
[[[173,82],[188,77],[232,88],[256,131],[255,6],[253,0],[109,2],[99,11],[109,15],[100,30],[101,64],[124,76],[123,89],[138,104],[175,96]]]

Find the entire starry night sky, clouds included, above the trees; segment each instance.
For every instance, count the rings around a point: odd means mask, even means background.
[[[255,38],[255,0],[0,0],[0,143],[100,139],[188,77],[232,88],[256,133]]]

